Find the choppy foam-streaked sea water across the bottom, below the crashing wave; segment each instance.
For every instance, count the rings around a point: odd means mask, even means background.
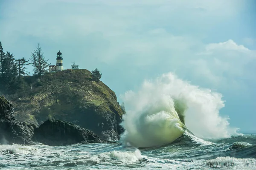
[[[159,148],[137,149],[119,144],[0,145],[3,170],[90,169],[256,169],[256,134],[204,141],[185,133]]]

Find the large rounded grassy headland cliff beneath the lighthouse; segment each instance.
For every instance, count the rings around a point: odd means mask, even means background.
[[[90,71],[66,70],[25,80],[32,83],[26,102],[22,94],[12,99],[20,121],[37,125],[48,118],[61,119],[92,130],[103,139],[119,139],[123,111],[115,93],[103,82],[93,81]]]

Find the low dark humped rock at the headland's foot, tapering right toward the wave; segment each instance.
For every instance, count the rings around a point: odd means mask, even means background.
[[[94,134],[91,130],[62,120],[45,121],[35,130],[33,139],[51,146],[107,142]]]

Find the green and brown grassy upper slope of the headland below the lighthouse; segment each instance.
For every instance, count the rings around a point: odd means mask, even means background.
[[[26,103],[30,115],[68,116],[87,108],[104,114],[112,112],[112,107],[122,115],[115,93],[103,82],[93,81],[92,73],[86,69],[47,73],[41,78],[28,76],[24,77],[24,82],[26,87],[31,84],[32,90],[26,88],[15,94],[12,101],[17,108],[24,108]]]

